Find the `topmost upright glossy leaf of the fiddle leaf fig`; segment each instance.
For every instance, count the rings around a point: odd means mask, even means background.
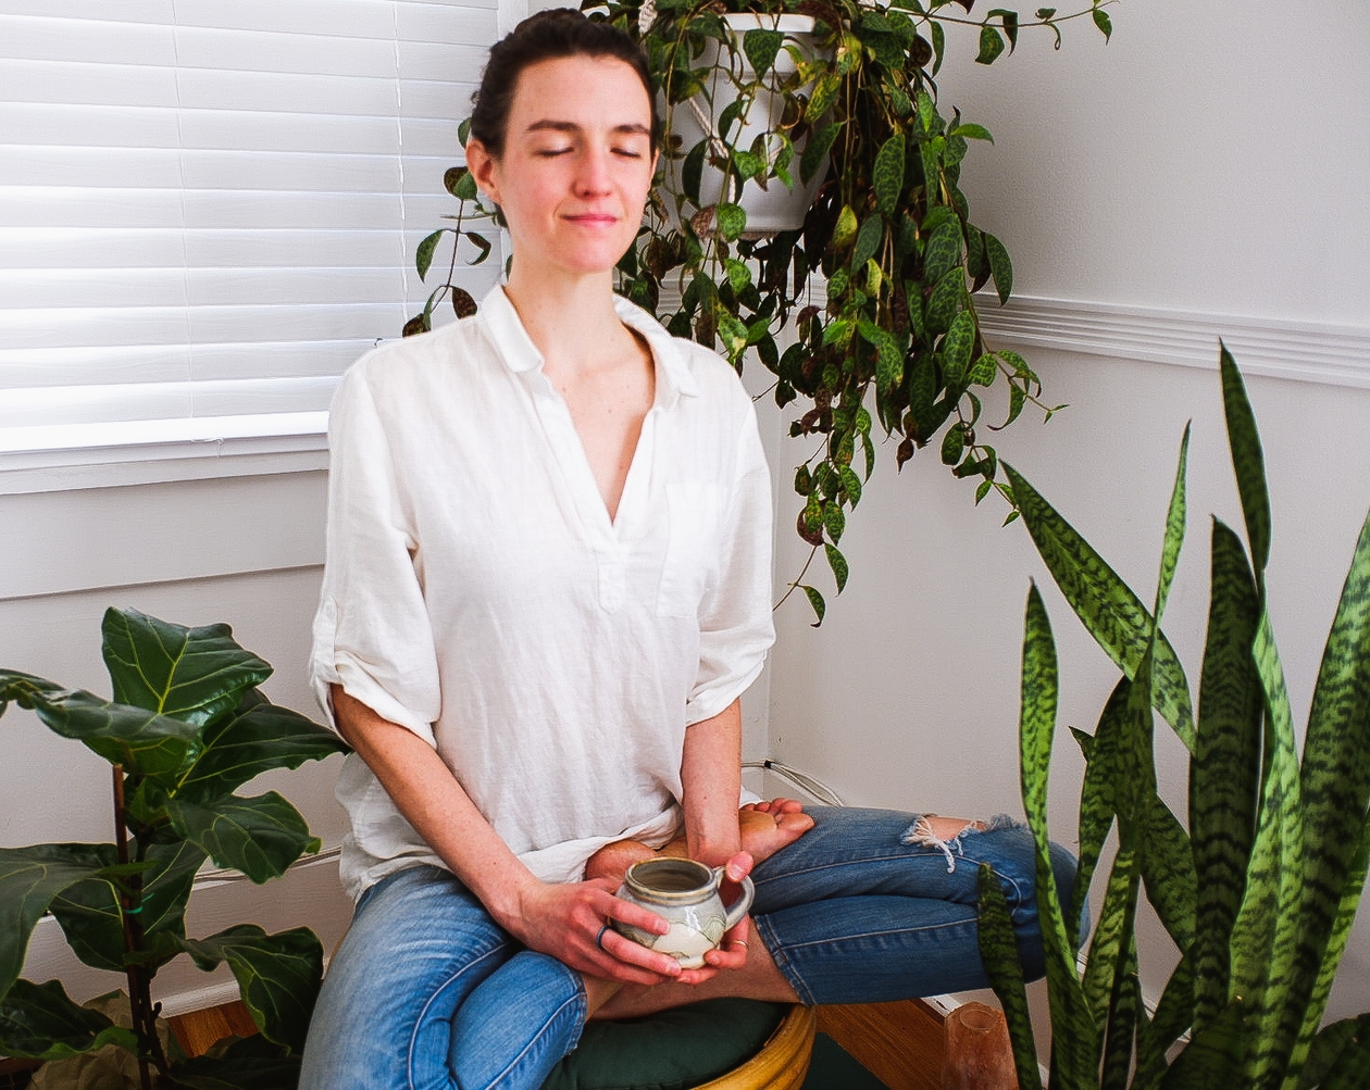
[[[271,676],[227,624],[188,629],[137,609],[107,609],[101,652],[119,704],[200,726],[237,707]]]

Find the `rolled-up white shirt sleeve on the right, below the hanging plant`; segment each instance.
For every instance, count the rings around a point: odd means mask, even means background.
[[[770,470],[749,403],[734,466],[717,576],[700,603],[699,672],[685,704],[686,724],[711,719],[737,700],[756,681],[775,642]]]

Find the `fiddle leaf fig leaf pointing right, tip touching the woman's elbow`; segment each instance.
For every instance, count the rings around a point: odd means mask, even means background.
[[[200,756],[177,787],[178,798],[207,802],[271,768],[299,768],[348,752],[327,727],[267,702],[255,690],[237,715],[207,726],[201,741]]]

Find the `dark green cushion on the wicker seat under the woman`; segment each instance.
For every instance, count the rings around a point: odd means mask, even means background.
[[[625,1022],[590,1022],[543,1090],[690,1090],[751,1060],[789,1004],[706,1000]]]

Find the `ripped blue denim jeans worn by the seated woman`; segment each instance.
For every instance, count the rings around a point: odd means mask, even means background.
[[[977,867],[993,864],[1023,969],[1043,972],[1033,841],[992,822],[948,846],[904,844],[917,815],[808,809],[814,828],[752,871],[756,930],[806,1004],[985,987]],[[1070,904],[1075,864],[1052,846]],[[329,967],[300,1090],[536,1090],[580,1041],[585,989],[525,949],[456,878],[389,875],[358,902]]]

